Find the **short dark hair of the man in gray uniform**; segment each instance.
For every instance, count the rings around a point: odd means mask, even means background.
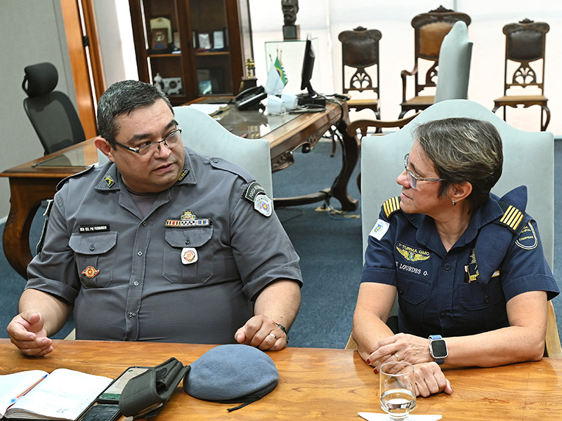
[[[119,134],[115,117],[138,107],[148,107],[157,100],[164,100],[174,114],[170,100],[156,86],[133,80],[113,83],[98,101],[98,136],[110,142],[115,149],[115,137]]]

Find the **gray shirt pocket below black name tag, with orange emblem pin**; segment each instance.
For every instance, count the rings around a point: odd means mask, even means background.
[[[68,245],[74,257],[80,281],[84,288],[105,288],[113,280],[115,253],[109,253],[117,244],[117,232],[96,234],[74,233]]]

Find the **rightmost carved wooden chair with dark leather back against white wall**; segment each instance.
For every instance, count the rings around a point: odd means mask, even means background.
[[[547,23],[528,19],[504,26],[506,37],[504,95],[494,100],[494,109],[492,109],[492,112],[496,112],[499,107],[503,107],[505,120],[507,107],[516,108],[518,105],[523,105],[527,108],[531,105],[539,105],[541,131],[547,130],[550,121],[548,99],[544,96],[544,43],[547,32],[549,32]],[[540,70],[539,74],[535,71],[537,69]],[[535,87],[535,93],[522,93],[523,90],[530,91],[526,89],[529,86]],[[544,116],[546,121],[543,123]]]

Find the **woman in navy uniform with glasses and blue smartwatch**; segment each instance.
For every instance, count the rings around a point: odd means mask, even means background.
[[[527,189],[501,199],[502,139],[488,122],[429,121],[396,180],[400,196],[381,207],[369,236],[353,339],[377,370],[416,367],[417,394],[452,393],[440,368],[540,360],[547,300],[558,286]],[[398,293],[398,333],[386,325]]]

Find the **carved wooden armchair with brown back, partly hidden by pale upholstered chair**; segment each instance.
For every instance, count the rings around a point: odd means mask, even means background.
[[[412,19],[414,28],[414,68],[408,72],[403,70],[402,102],[399,119],[410,110],[421,111],[434,102],[434,95],[428,94],[437,83],[439,51],[445,35],[449,33],[455,22],[461,20],[470,25],[471,18],[466,13],[455,12],[439,6],[436,10],[421,13]],[[423,68],[423,69],[422,69]],[[414,77],[414,97],[406,99],[408,76]],[[424,91],[427,88],[428,91]],[[422,92],[424,91],[424,92]],[[424,95],[420,95],[424,93]]]

